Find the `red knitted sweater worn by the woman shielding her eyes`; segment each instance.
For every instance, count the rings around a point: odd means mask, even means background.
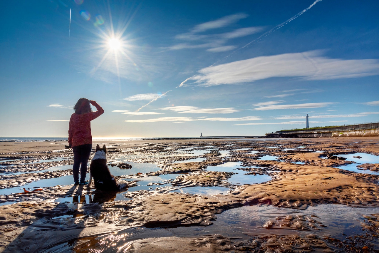
[[[104,113],[100,105],[95,104],[95,107],[97,112],[72,113],[69,123],[69,145],[71,147],[92,144],[91,120]]]

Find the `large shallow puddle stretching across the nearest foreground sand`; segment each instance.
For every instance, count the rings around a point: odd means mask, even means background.
[[[187,189],[196,188],[189,187],[183,189],[185,192]],[[200,187],[200,188],[212,188],[212,187]],[[219,187],[222,188],[222,187]],[[199,237],[199,236],[211,236],[214,234],[221,234],[225,237],[240,237],[238,240],[247,240],[251,238],[244,233],[255,234],[280,234],[290,235],[298,234],[300,236],[306,236],[309,234],[316,234],[317,236],[324,238],[325,234],[330,234],[332,237],[339,240],[346,240],[345,235],[354,236],[354,234],[363,234],[360,226],[360,222],[363,221],[363,214],[378,213],[377,207],[365,207],[354,208],[344,205],[335,204],[323,204],[315,207],[308,207],[306,210],[290,209],[290,208],[278,208],[274,206],[243,206],[226,210],[221,214],[217,214],[217,219],[213,221],[210,226],[180,226],[177,228],[146,228],[146,227],[134,227],[124,229],[114,236],[114,233],[108,235],[100,235],[93,237],[86,237],[83,239],[72,240],[69,243],[64,242],[60,245],[56,245],[48,251],[50,252],[67,252],[74,250],[74,245],[83,245],[83,250],[91,252],[102,252],[106,249],[107,252],[116,252],[119,247],[125,243],[137,240],[141,238],[151,237]],[[262,226],[269,220],[274,221],[276,217],[285,217],[291,215],[293,218],[301,218],[299,223],[307,223],[304,221],[305,216],[312,218],[316,222],[314,225],[318,229],[311,229],[308,231],[301,231],[295,229],[266,229]],[[318,217],[312,217],[311,215],[317,215]],[[346,222],[348,221],[348,222]],[[323,226],[320,226],[323,225]],[[284,226],[288,228],[288,226]],[[342,234],[343,233],[343,234]],[[124,238],[120,240],[120,238]],[[90,242],[88,242],[90,240]],[[374,244],[374,247],[378,247],[378,242],[375,240],[370,241]],[[91,248],[87,248],[87,245],[91,245]],[[312,250],[312,248],[309,248]]]

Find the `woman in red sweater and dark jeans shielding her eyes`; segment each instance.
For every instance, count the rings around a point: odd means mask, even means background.
[[[92,112],[90,103],[97,112]],[[69,123],[69,148],[74,152],[74,185],[86,185],[87,163],[92,149],[91,120],[102,115],[104,110],[95,101],[86,98],[79,99],[74,110]]]

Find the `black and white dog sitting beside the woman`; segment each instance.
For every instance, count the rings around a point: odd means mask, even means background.
[[[106,148],[100,148],[99,144],[96,146],[94,157],[92,157],[91,165],[89,165],[89,182],[87,187],[90,187],[94,178],[95,188],[102,191],[118,191],[128,187],[126,181],[117,183],[114,176],[106,165]]]

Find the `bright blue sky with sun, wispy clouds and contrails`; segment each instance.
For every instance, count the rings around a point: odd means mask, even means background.
[[[379,121],[377,1],[0,7],[0,137],[64,137],[80,97],[105,110],[93,137],[264,135],[307,112],[310,126]]]

